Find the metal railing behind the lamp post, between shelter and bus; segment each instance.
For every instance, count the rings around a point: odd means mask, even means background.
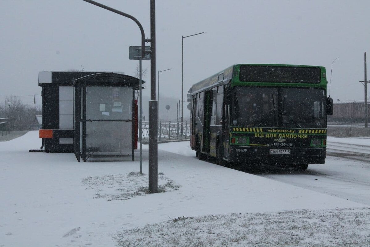
[[[181,126],[183,129],[181,130]],[[185,121],[183,124],[181,122],[162,122],[159,121],[158,123],[158,141],[165,141],[165,140],[187,140],[189,139],[190,132],[189,132],[189,123]],[[182,133],[182,135],[181,135]],[[149,123],[142,122],[141,124],[141,134],[142,140],[148,141],[149,140]]]

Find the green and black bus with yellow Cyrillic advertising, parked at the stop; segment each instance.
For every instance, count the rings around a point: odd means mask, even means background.
[[[326,158],[326,70],[236,64],[191,89],[191,148],[220,164],[277,164],[306,170]]]

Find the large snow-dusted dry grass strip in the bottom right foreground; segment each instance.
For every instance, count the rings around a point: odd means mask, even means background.
[[[119,246],[370,246],[370,210],[178,217],[124,230]]]

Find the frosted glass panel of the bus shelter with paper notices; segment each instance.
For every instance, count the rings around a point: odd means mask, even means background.
[[[86,151],[130,154],[132,88],[86,87]]]

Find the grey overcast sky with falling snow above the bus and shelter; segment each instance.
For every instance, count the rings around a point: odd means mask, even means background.
[[[150,38],[149,0],[98,1],[136,17]],[[172,68],[160,75],[160,94],[181,98],[181,36],[205,32],[184,39],[185,99],[192,84],[238,63],[325,66],[329,81],[336,57],[334,101],[364,98],[368,0],[157,0],[156,7],[157,71]],[[128,47],[140,45],[137,24],[82,0],[0,0],[0,33],[0,100],[40,94],[38,71],[82,66],[134,76],[138,64],[128,59]],[[144,80],[149,95],[149,73]]]

